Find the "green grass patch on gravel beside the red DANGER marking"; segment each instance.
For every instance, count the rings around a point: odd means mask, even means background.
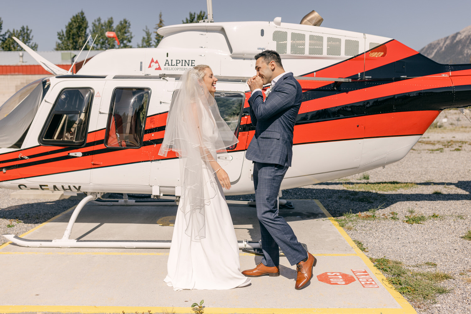
[[[451,289],[438,285],[447,279],[449,274],[443,272],[409,271],[401,262],[388,258],[370,258],[374,266],[386,275],[388,282],[401,294],[413,301],[435,301],[438,294],[450,292]]]

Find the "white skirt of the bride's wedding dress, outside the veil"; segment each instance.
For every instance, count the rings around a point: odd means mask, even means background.
[[[179,205],[164,279],[173,290],[232,289],[247,279],[240,272],[239,246],[222,187],[217,177],[203,170],[205,182],[211,180],[219,191],[205,206],[205,237],[199,242],[185,233],[187,223]]]

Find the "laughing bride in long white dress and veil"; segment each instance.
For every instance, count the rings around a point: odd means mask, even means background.
[[[173,290],[231,289],[250,284],[240,272],[239,247],[223,188],[231,187],[218,155],[238,142],[214,99],[216,79],[207,65],[181,77],[170,105],[159,155],[180,161],[180,197],[164,279]],[[177,91],[176,91],[177,92]]]

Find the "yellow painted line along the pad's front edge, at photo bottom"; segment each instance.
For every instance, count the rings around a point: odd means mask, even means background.
[[[190,303],[190,302],[188,302]],[[0,313],[55,312],[55,313],[191,313],[191,307],[160,306],[0,306]],[[387,310],[387,311],[385,311]],[[204,307],[206,314],[404,314],[403,309],[376,308],[233,308]],[[414,311],[415,313],[415,311]]]

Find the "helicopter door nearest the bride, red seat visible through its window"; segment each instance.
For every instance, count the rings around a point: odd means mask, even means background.
[[[120,192],[148,185],[150,146],[144,143],[151,89],[121,87],[123,81],[106,82],[99,108],[91,182],[97,188]],[[105,95],[106,94],[106,95]],[[115,188],[113,188],[115,187]]]

